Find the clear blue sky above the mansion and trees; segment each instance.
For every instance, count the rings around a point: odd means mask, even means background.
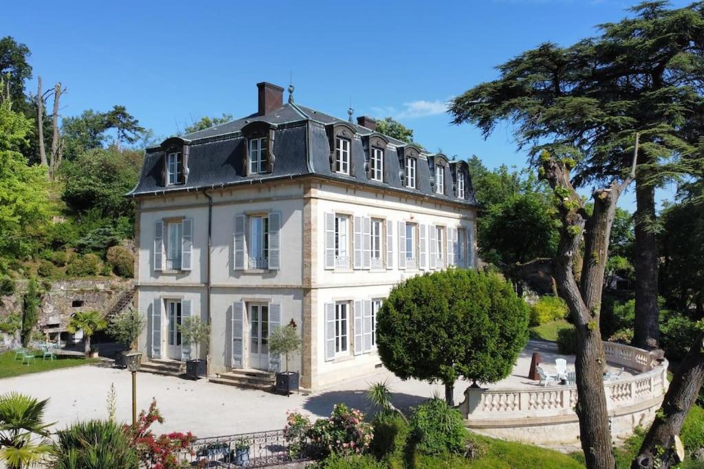
[[[444,103],[521,51],[572,44],[637,3],[11,2],[0,35],[30,47],[45,87],[65,84],[62,115],[121,104],[165,137],[203,115],[252,113],[257,82],[287,86],[292,74],[298,103],[346,117],[351,99],[355,115],[391,115],[430,150],[524,167],[510,129],[485,141],[449,124]],[[36,91],[35,80],[29,86]],[[631,191],[622,205],[632,209],[633,200]]]

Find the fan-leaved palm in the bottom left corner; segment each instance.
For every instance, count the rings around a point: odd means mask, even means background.
[[[37,463],[51,451],[44,423],[49,399],[39,401],[18,392],[0,395],[0,461],[9,468]]]

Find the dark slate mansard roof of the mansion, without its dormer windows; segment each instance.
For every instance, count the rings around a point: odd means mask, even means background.
[[[268,127],[272,132],[270,135],[273,137],[273,148],[270,150],[275,155],[275,163],[271,172],[247,175],[244,169],[246,134],[248,129],[257,126]],[[332,140],[329,138],[329,132],[331,128],[337,129],[338,126],[344,126],[350,134],[354,134],[351,139],[349,176],[332,171],[330,164]],[[365,162],[370,158],[369,146],[372,139],[375,143],[386,143],[383,182],[370,179],[365,171]],[[188,176],[185,184],[165,186],[164,157],[168,148],[175,144],[187,147]],[[417,154],[416,188],[405,187],[401,179],[404,169],[403,155],[406,153]],[[432,186],[431,174],[436,161],[446,162],[444,194],[435,193]],[[465,176],[463,199],[455,195],[458,172]],[[265,115],[253,114],[182,137],[172,137],[161,146],[148,148],[139,182],[127,195],[135,197],[198,191],[306,175],[322,176],[357,186],[386,188],[398,193],[424,195],[436,200],[479,205],[474,198],[466,162],[448,161],[444,155],[427,153],[412,143],[384,136],[366,127],[294,103],[284,104]]]

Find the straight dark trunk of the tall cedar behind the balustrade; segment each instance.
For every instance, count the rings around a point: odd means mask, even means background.
[[[658,347],[658,243],[651,226],[655,222],[655,188],[636,181],[636,318],[633,345],[652,350]]]

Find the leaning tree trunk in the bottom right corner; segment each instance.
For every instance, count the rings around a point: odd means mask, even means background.
[[[660,411],[656,414],[646,439],[643,440],[638,456],[631,463],[632,469],[666,469],[679,462],[673,440],[675,435],[679,435],[684,418],[704,383],[703,347],[704,333],[700,333],[677,368]],[[659,460],[658,463],[655,463],[656,460]]]

